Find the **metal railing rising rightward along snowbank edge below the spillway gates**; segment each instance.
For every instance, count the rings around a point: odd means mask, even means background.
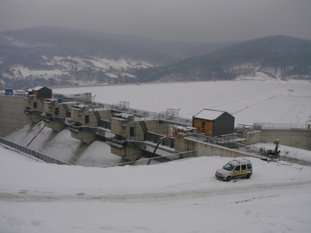
[[[170,162],[173,160],[186,159],[186,158],[191,158],[191,157],[195,157],[195,150],[181,152],[177,154],[158,156],[158,157],[149,158],[149,159],[142,159],[142,160],[137,160],[134,162],[102,166],[102,167],[106,168],[106,167],[125,166],[125,165],[139,166],[139,165],[149,165],[149,164],[154,165],[154,164],[165,163],[165,162]]]

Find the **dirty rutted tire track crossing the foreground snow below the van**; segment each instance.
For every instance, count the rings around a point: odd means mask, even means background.
[[[87,194],[86,192],[73,193],[45,193],[35,190],[34,192],[28,192],[28,190],[20,190],[22,192],[9,193],[0,191],[0,201],[13,201],[13,202],[58,202],[58,201],[103,201],[103,202],[150,202],[159,200],[182,200],[188,198],[212,198],[212,197],[225,197],[225,195],[236,195],[236,194],[249,194],[250,196],[257,196],[259,191],[267,190],[280,190],[278,193],[282,193],[284,189],[296,189],[301,186],[309,186],[311,181],[307,182],[293,182],[293,183],[268,183],[268,184],[256,184],[249,185],[247,188],[237,187],[223,187],[213,189],[197,189],[197,190],[183,190],[176,192],[161,192],[161,193],[122,193],[122,194],[111,194],[111,195],[94,195],[92,193]],[[81,190],[80,190],[81,191]]]

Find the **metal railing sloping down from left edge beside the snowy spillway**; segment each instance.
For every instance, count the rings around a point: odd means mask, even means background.
[[[4,139],[2,137],[0,137],[0,143],[2,143],[3,145],[6,145],[8,147],[11,147],[11,148],[13,148],[15,150],[19,150],[19,151],[21,151],[23,153],[35,156],[36,158],[42,159],[43,161],[45,161],[45,162],[47,162],[49,164],[71,165],[71,164],[66,163],[64,161],[55,159],[55,158],[53,158],[53,157],[51,157],[49,155],[43,154],[41,152],[29,149],[29,148],[24,147],[22,145],[19,145],[17,143],[14,143],[14,142],[11,142],[9,140],[6,140],[6,139]]]

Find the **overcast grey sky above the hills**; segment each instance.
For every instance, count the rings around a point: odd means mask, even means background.
[[[62,26],[157,40],[311,40],[311,0],[0,0],[0,31]]]

